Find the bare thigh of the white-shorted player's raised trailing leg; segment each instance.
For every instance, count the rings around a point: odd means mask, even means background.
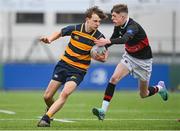
[[[139,80],[139,89],[141,94],[147,94],[148,93],[148,86],[149,82],[144,80]]]

